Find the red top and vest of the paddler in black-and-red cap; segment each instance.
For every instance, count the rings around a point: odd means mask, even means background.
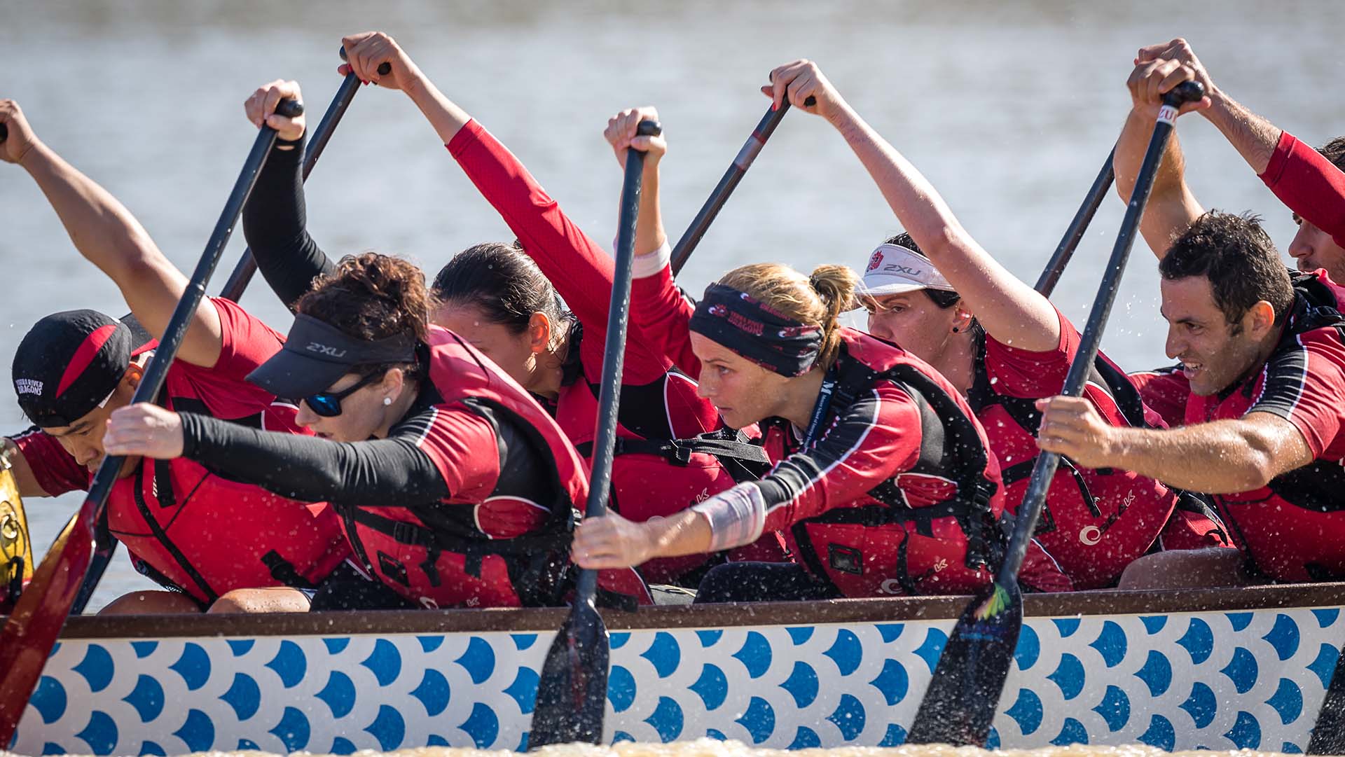
[[[292,405],[245,381],[284,337],[237,304],[211,301],[222,327],[219,360],[211,368],[175,360],[163,405],[258,429],[307,433],[295,425]],[[15,444],[47,493],[89,488],[93,472],[51,436],[32,429]],[[137,567],[202,604],[233,589],[316,584],[350,554],[325,504],[305,506],[183,459],[141,460],[120,479],[108,497],[108,527]]]

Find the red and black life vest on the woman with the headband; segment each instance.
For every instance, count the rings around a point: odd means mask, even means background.
[[[916,464],[868,496],[795,523],[798,559],[846,597],[970,593],[1003,559],[1006,524],[999,469],[986,452],[971,410],[947,379],[904,350],[854,329],[842,331],[833,413],[882,381],[907,391],[920,410]],[[792,437],[787,421],[767,428],[772,457]],[[913,507],[907,492],[948,489],[943,502]],[[919,584],[919,586],[917,586]]]

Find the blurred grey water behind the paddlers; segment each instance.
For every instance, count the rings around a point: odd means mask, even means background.
[[[656,105],[670,140],[664,216],[677,238],[767,99],[757,86],[812,58],[869,122],[933,182],[964,226],[1032,282],[1128,109],[1142,44],[1188,38],[1215,81],[1310,144],[1340,134],[1345,4],[1069,4],[993,0],[781,3],[355,3],[206,0],[0,4],[0,97],[120,198],[191,270],[254,137],[243,99],[274,78],[304,86],[312,122],[335,93],[343,34],[394,35],[599,241],[615,235],[620,172],[608,116]],[[1290,214],[1200,117],[1178,132],[1206,207],[1255,210],[1287,246]],[[1123,207],[1112,195],[1056,292],[1081,324]],[[468,245],[511,238],[401,94],[364,87],[308,184],[309,229],[332,254],[398,253],[433,273]],[[792,113],[721,214],[681,282],[697,290],[745,262],[861,266],[898,230],[843,140]],[[242,251],[242,234],[210,288]],[[1286,258],[1287,260],[1287,258]],[[0,356],[59,309],[125,312],[36,186],[0,165]],[[1157,274],[1143,243],[1104,347],[1127,368],[1165,363]],[[284,331],[260,280],[243,304]],[[0,424],[26,424],[9,382]],[[78,497],[30,500],[39,553]],[[249,528],[249,523],[237,523]],[[124,554],[124,553],[122,553]],[[90,609],[152,588],[124,555]]]

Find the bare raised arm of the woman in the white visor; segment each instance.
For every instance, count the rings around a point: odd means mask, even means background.
[[[788,97],[791,105],[822,116],[841,132],[897,221],[991,336],[1024,350],[1057,348],[1060,319],[1050,303],[971,238],[933,186],[846,104],[816,63],[795,61],[772,71],[771,81],[761,87],[767,95],[776,102]],[[816,104],[806,105],[808,97]]]

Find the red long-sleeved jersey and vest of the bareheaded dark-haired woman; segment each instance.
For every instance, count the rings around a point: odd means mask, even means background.
[[[568,376],[555,402],[543,405],[588,460],[597,425],[612,257],[561,211],[523,164],[479,122],[469,121],[447,147],[578,321],[572,327],[569,344],[578,352],[577,370]],[[734,484],[730,469],[714,454],[702,452],[712,442],[693,438],[721,432],[718,413],[697,395],[695,381],[675,370],[633,323],[625,342],[617,422],[612,508],[623,516],[646,520],[671,515]],[[681,441],[668,444],[674,440]],[[745,554],[759,559],[784,558],[771,536]],[[705,555],[664,558],[640,570],[651,581],[675,582],[705,562]]]

